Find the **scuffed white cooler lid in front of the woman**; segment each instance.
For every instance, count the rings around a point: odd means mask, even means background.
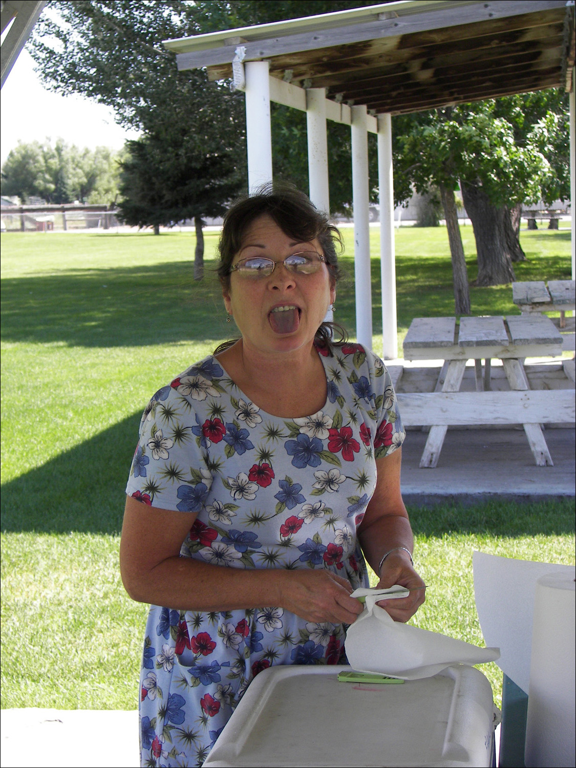
[[[269,667],[204,766],[492,766],[492,688],[474,667],[402,684],[340,683],[341,666]]]

